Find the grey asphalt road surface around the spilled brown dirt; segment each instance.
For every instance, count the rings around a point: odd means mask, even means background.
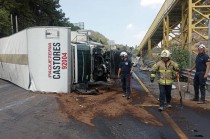
[[[148,75],[136,70],[142,81]],[[133,88],[145,93],[136,79]],[[163,127],[142,123],[130,115],[109,119],[97,117],[95,127],[68,118],[59,111],[55,95],[26,91],[0,80],[0,138],[3,139],[178,139],[157,107],[145,107]],[[210,112],[174,106],[168,115],[189,139],[210,137]]]

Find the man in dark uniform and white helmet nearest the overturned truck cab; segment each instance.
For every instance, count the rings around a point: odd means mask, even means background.
[[[131,61],[128,59],[128,54],[126,52],[121,52],[120,56],[122,61],[120,62],[119,70],[118,70],[118,78],[121,75],[121,83],[123,89],[123,97],[127,96],[127,99],[130,99],[130,77],[133,73],[133,65]]]

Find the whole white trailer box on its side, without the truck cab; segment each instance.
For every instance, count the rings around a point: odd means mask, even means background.
[[[71,31],[33,27],[0,39],[0,78],[26,90],[71,91]]]

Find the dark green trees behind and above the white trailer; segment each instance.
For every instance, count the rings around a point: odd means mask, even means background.
[[[60,9],[59,0],[0,0],[0,37],[12,33],[11,18],[15,30],[15,16],[18,19],[18,30],[32,26],[65,26],[78,30],[65,17]]]

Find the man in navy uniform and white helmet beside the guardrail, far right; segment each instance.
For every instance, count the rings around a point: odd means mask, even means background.
[[[188,71],[188,76],[190,76],[192,70],[196,70],[194,76],[194,98],[193,101],[199,101],[199,88],[201,92],[201,98],[198,104],[205,103],[205,96],[206,96],[206,80],[208,77],[209,69],[210,69],[210,58],[205,53],[206,46],[201,44],[198,46],[198,55],[196,56],[195,64],[193,67]]]

